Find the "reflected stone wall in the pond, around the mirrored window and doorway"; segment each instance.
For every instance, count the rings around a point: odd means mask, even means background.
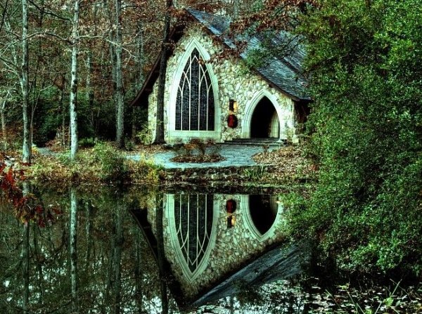
[[[169,213],[173,204],[169,204],[170,197],[164,197],[164,218],[163,230],[165,232],[165,256],[170,262],[172,273],[181,284],[181,289],[188,297],[195,296],[199,292],[211,287],[213,284],[224,279],[239,267],[244,266],[254,256],[261,254],[269,245],[275,244],[283,239],[283,212],[279,208],[279,214],[271,229],[260,235],[251,228],[251,218],[249,215],[248,195],[214,195],[215,212],[217,222],[215,223],[215,235],[210,241],[210,254],[205,260],[204,268],[196,277],[189,278],[179,264],[177,249],[172,242]],[[234,199],[237,209],[234,212],[236,223],[234,227],[227,228],[226,225],[226,201]],[[155,217],[155,212],[148,211],[148,220],[151,223]],[[155,224],[153,224],[155,232]]]

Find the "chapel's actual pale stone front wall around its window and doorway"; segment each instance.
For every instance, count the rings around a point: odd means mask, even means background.
[[[283,95],[276,89],[269,86],[267,81],[264,81],[260,76],[253,74],[245,69],[241,60],[234,57],[229,57],[220,60],[219,54],[222,53],[222,44],[213,40],[207,33],[201,30],[199,25],[192,25],[185,31],[184,36],[178,42],[174,49],[173,55],[167,61],[167,74],[165,86],[165,140],[167,143],[174,143],[175,138],[170,135],[170,121],[169,111],[170,106],[174,106],[175,97],[171,95],[172,84],[179,84],[174,79],[177,71],[180,71],[184,64],[179,67],[181,59],[184,57],[186,48],[193,40],[198,41],[207,53],[210,54],[210,60],[207,60],[212,66],[214,72],[214,79],[217,81],[217,100],[216,117],[218,117],[216,132],[213,136],[209,136],[206,132],[195,133],[185,131],[189,137],[213,137],[217,142],[224,142],[233,138],[248,138],[248,129],[250,128],[250,118],[253,112],[253,107],[263,96],[270,98],[271,102],[279,112],[280,119],[280,138],[286,139],[295,133],[295,112],[293,100]],[[155,133],[156,112],[157,112],[157,91],[158,80],[154,85],[153,92],[148,99],[148,126]],[[238,118],[238,126],[231,129],[227,126],[226,119],[229,115],[229,100],[234,99],[238,103],[238,111],[235,112]],[[248,121],[246,121],[248,120]]]

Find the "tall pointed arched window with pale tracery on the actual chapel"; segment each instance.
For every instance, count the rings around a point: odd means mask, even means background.
[[[175,129],[214,131],[214,93],[210,74],[194,48],[186,62],[177,89]]]

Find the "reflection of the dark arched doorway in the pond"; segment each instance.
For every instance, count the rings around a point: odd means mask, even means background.
[[[274,225],[279,211],[276,195],[249,195],[249,213],[254,230],[265,235]]]

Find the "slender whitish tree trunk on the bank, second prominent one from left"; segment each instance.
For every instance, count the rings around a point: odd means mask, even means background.
[[[70,79],[70,159],[74,160],[77,153],[77,53],[79,0],[75,0],[72,22],[72,70]]]

